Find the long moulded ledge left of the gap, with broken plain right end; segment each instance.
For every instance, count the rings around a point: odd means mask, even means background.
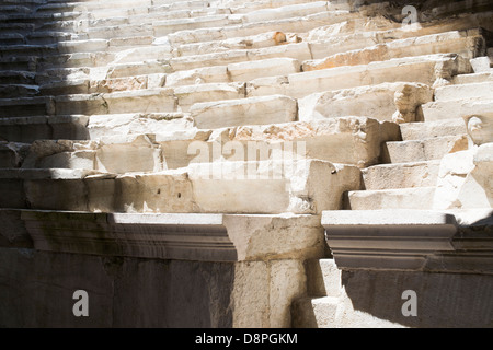
[[[115,214],[0,210],[2,247],[188,261],[270,261],[323,257],[317,215]],[[15,220],[12,220],[14,218]],[[15,224],[15,230],[12,225]],[[12,237],[12,232],[23,232]],[[19,235],[19,234],[18,234]],[[13,240],[15,238],[15,240]],[[5,241],[5,242],[7,242]],[[21,242],[22,244],[16,244]]]

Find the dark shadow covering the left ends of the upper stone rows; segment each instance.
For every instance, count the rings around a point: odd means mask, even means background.
[[[70,94],[74,73],[61,42],[80,39],[83,2],[0,1],[0,140],[88,139],[87,118],[57,115],[55,97]],[[58,89],[54,89],[58,86]]]

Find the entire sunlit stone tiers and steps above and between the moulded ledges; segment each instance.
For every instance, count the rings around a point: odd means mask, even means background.
[[[493,113],[493,9],[428,1],[411,30],[401,10],[0,0],[0,208],[434,210],[442,160],[474,147],[462,117]],[[344,326],[341,272],[308,250],[307,284],[251,324]]]

